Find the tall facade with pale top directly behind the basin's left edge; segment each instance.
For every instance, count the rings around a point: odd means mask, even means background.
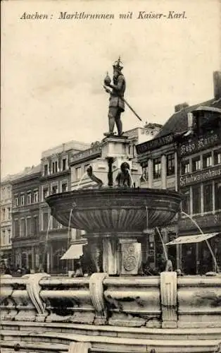
[[[68,229],[51,216],[45,198],[53,193],[70,191],[70,159],[72,155],[88,147],[88,143],[70,141],[42,152],[39,179],[39,246],[41,261],[48,273],[65,273],[67,270],[67,262],[61,261],[61,257],[68,249]]]

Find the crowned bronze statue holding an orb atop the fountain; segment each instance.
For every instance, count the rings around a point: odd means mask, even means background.
[[[110,93],[109,100],[109,132],[105,133],[105,136],[113,136],[113,129],[116,124],[118,129],[118,136],[122,136],[122,121],[120,120],[120,116],[122,112],[125,111],[125,100],[124,93],[126,89],[126,81],[125,76],[122,74],[122,62],[120,58],[118,61],[115,61],[113,64],[113,84],[111,84],[111,80],[109,76],[106,76],[104,80],[104,88],[106,92]],[[112,91],[108,89],[108,87],[112,88]]]

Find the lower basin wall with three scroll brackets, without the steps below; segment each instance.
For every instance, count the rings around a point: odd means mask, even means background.
[[[221,327],[221,277],[1,277],[1,320]]]

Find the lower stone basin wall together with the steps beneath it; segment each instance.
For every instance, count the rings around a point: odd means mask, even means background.
[[[35,340],[46,349],[61,340],[59,352],[66,352],[65,342],[75,340],[71,353],[116,352],[115,345],[124,352],[214,352],[221,341],[221,276],[5,275],[0,309],[3,347]],[[85,350],[76,351],[81,345]]]

